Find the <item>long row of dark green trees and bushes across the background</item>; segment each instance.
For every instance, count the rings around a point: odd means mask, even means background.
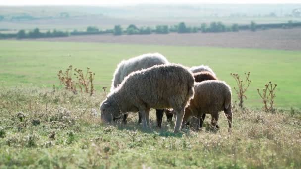
[[[68,31],[47,31],[47,32],[40,32],[39,28],[35,28],[32,31],[26,32],[25,30],[20,30],[18,33],[9,33],[9,34],[2,34],[0,33],[0,39],[7,39],[7,38],[50,38],[50,37],[67,37],[67,36],[74,36],[74,35],[93,35],[93,34],[113,34],[113,35],[139,35],[139,34],[168,34],[170,32],[176,33],[196,33],[196,32],[237,32],[239,30],[251,30],[256,31],[258,29],[268,29],[268,28],[292,28],[296,26],[301,26],[301,22],[293,22],[288,21],[287,23],[271,23],[271,24],[256,24],[255,22],[251,21],[250,24],[245,25],[225,25],[222,22],[211,22],[210,24],[202,23],[200,26],[190,27],[187,26],[184,22],[180,22],[176,25],[157,25],[155,27],[137,27],[134,24],[130,24],[125,29],[122,28],[121,25],[115,25],[113,29],[105,29],[100,30],[95,26],[88,26],[86,31],[77,31],[74,30],[72,32]]]

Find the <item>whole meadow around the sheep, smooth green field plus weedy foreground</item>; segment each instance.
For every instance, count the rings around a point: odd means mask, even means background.
[[[185,66],[210,65],[231,87],[230,73],[250,71],[246,107],[234,107],[232,133],[224,116],[218,131],[207,118],[201,131],[178,134],[165,116],[156,127],[154,111],[148,131],[135,113],[127,125],[102,123],[102,87],[110,87],[122,59],[147,52]],[[300,61],[300,51],[0,41],[0,168],[301,168]],[[69,65],[96,73],[94,95],[59,85],[58,71]],[[278,84],[273,113],[260,110],[256,91],[268,81]]]

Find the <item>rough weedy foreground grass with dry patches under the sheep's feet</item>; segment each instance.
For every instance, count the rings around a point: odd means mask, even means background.
[[[103,93],[0,87],[0,168],[301,168],[301,113],[234,110],[233,132],[100,122]],[[39,122],[39,123],[37,123]]]

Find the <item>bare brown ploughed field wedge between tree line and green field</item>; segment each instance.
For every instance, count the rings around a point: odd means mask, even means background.
[[[86,35],[39,40],[301,50],[301,28],[258,30],[256,32],[171,33],[166,35]]]

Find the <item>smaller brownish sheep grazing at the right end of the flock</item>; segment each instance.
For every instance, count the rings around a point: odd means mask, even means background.
[[[229,131],[232,129],[232,94],[231,88],[223,81],[209,80],[196,83],[195,95],[185,109],[183,124],[190,116],[195,129],[200,127],[203,114],[211,114],[211,127],[217,128],[218,113],[224,111],[228,120]]]

